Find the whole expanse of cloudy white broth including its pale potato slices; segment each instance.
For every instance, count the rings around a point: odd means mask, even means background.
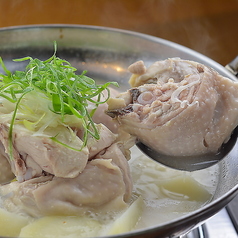
[[[208,203],[216,190],[218,166],[192,173],[177,171],[147,158],[135,146],[131,149],[129,164],[133,195],[131,205],[121,214],[33,219],[1,209],[0,223],[5,229],[1,229],[0,235],[43,238],[124,233],[186,215]]]

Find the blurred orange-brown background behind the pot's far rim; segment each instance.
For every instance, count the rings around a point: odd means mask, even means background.
[[[238,0],[0,0],[0,27],[83,24],[137,31],[222,65],[238,55]]]

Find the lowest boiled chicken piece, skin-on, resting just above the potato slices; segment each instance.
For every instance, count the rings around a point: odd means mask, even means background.
[[[42,215],[79,215],[127,207],[132,191],[129,165],[122,143],[101,151],[75,178],[41,176],[0,187],[9,211]]]

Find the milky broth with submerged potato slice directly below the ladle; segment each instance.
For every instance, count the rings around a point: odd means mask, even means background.
[[[145,207],[136,229],[159,225],[186,215],[211,201],[218,183],[218,165],[185,172],[170,169],[132,148],[130,167],[134,195]]]

